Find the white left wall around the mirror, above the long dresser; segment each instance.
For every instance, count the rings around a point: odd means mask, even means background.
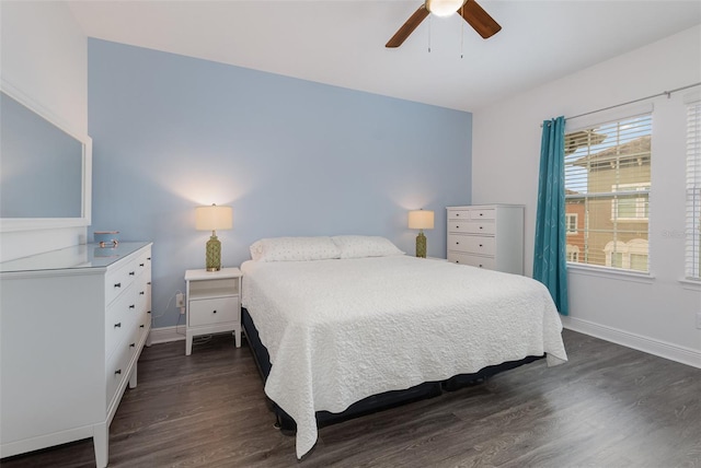
[[[88,133],[88,38],[68,5],[0,2],[0,77],[66,128]],[[0,234],[0,261],[84,242],[85,229]]]

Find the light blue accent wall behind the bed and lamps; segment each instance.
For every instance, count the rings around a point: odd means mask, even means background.
[[[93,231],[153,242],[156,327],[204,268],[195,207],[229,204],[222,262],[285,235],[382,235],[413,255],[407,211],[470,203],[472,115],[100,39],[88,43]]]

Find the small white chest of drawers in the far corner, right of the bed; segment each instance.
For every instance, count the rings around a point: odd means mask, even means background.
[[[448,207],[448,261],[524,274],[524,206]]]

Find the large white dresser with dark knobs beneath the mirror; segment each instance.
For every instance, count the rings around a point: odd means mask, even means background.
[[[110,423],[151,328],[151,244],[78,245],[0,264],[0,457]]]

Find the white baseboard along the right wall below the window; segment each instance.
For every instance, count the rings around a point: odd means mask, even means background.
[[[650,337],[631,334],[630,331],[619,330],[617,328],[607,327],[605,325],[595,324],[593,321],[583,320],[574,317],[561,317],[562,325],[568,330],[578,331],[606,341],[654,354],[659,358],[677,361],[682,364],[701,368],[701,352],[680,347],[678,344],[655,340]]]

